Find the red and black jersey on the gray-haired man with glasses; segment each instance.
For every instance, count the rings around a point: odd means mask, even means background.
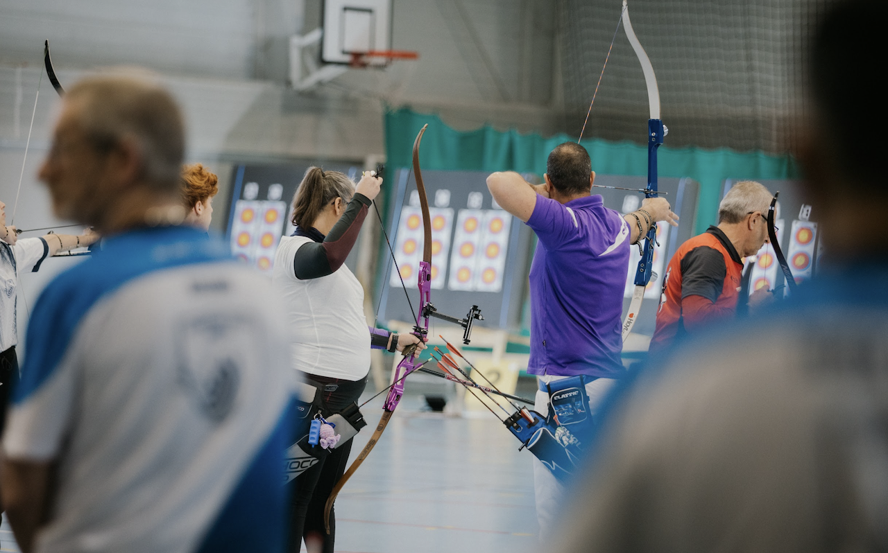
[[[663,278],[651,351],[714,320],[733,317],[742,272],[737,249],[718,226],[682,244]]]

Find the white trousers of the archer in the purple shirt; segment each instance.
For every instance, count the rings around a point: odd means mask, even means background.
[[[551,383],[567,376],[543,375],[537,376],[542,383]],[[598,413],[601,402],[607,397],[607,393],[614,387],[616,380],[613,378],[596,378],[591,383],[586,383],[586,393],[589,395],[589,414],[595,416]],[[534,410],[540,415],[549,413],[549,394],[537,390],[534,398]],[[561,517],[561,509],[565,501],[565,487],[558,478],[539,459],[534,457],[534,493],[536,498],[536,520],[540,524],[540,541],[551,543],[555,537],[558,523]]]

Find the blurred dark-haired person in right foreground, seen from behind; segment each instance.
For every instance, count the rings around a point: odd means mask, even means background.
[[[831,267],[639,377],[555,550],[888,550],[884,91],[865,53],[885,21],[882,1],[835,4],[807,58],[803,193]]]

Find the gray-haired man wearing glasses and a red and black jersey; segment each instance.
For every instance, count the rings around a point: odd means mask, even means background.
[[[741,298],[742,258],[755,255],[768,241],[772,197],[760,183],[737,183],[718,204],[718,225],[676,250],[663,277],[652,354],[736,316],[738,301],[747,301]],[[773,301],[773,294],[758,288],[748,301],[754,314]]]

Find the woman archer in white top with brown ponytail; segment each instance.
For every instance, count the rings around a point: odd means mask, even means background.
[[[274,257],[272,280],[287,311],[292,364],[305,382],[318,389],[315,404],[325,417],[360,398],[371,347],[400,352],[418,344],[417,356],[424,349],[416,336],[367,326],[364,290],[345,266],[381,185],[382,178],[369,174],[355,187],[338,171],[307,170],[293,199],[296,232],[281,238]],[[332,553],[336,521],[331,510],[327,535],[324,504],[345,472],[351,447],[351,441],[337,446],[293,480],[292,551],[299,550],[304,537],[312,536],[314,543],[323,541],[322,551]]]

